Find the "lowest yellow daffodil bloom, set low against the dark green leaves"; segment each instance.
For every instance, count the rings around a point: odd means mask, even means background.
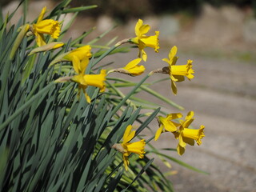
[[[130,140],[134,138],[134,135],[135,130],[132,131],[132,126],[129,125],[126,127],[126,131],[123,134],[122,143],[114,144],[114,146],[112,146],[112,148],[122,153],[122,159],[126,170],[128,170],[128,157],[131,153],[138,154],[139,158],[144,158],[144,154],[146,153],[144,150],[146,146],[145,139],[138,142],[130,142]]]

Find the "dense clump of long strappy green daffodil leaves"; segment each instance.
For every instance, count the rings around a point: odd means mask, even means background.
[[[171,182],[153,164],[154,159],[147,154],[139,160],[131,157],[134,160],[126,172],[122,154],[111,146],[120,142],[128,125],[139,123],[139,137],[155,116],[163,113],[157,104],[135,97],[139,91],[182,107],[151,90],[150,84],[144,83],[148,76],[139,83],[109,78],[108,94],[90,86],[86,90],[90,104],[84,95],[77,96],[75,83],[56,83],[56,79],[70,74],[72,66],[68,62],[51,65],[52,62],[71,48],[82,46],[83,39],[94,29],[74,40],[70,38],[61,50],[42,52],[34,49],[34,37],[26,37],[27,1],[22,3],[24,18],[18,23],[7,27],[15,11],[0,20],[0,190],[172,191]],[[60,2],[47,18],[58,19],[68,13],[74,13],[75,18],[79,11],[96,7],[69,8],[69,3],[70,0]],[[62,29],[58,41],[74,18]],[[127,47],[110,46],[113,40],[104,46],[95,45],[108,32],[90,41],[95,51],[87,72],[97,73],[101,66],[96,65],[107,55],[127,51]],[[129,86],[133,89],[126,95],[118,89]],[[152,112],[146,114],[142,109]],[[154,154],[170,158],[154,146],[150,148]]]

